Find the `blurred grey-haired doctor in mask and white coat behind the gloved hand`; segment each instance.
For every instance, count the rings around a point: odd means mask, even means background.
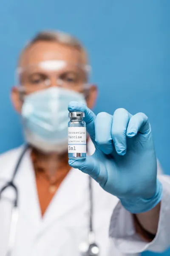
[[[13,177],[24,152],[13,180],[19,217],[12,256],[86,255],[91,221],[101,256],[137,255],[150,244],[152,250],[157,250],[154,239],[160,203],[149,213],[133,215],[116,196],[105,192],[94,180],[89,183],[88,175],[68,164],[67,107],[70,101],[93,107],[97,90],[88,84],[89,70],[85,49],[77,39],[62,32],[40,32],[21,52],[11,99],[21,114],[29,147],[20,146],[0,156],[2,189]],[[88,140],[88,154],[94,151]],[[14,199],[12,187],[4,190],[0,198],[2,256],[9,246]],[[117,234],[113,237],[124,253],[108,236],[112,213],[111,230]]]

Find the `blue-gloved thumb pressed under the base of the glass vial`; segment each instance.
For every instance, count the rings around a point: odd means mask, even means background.
[[[100,168],[99,163],[97,163],[96,159],[92,156],[88,156],[85,159],[69,159],[69,165],[75,169],[79,169],[80,171],[87,173],[94,180],[100,183]]]

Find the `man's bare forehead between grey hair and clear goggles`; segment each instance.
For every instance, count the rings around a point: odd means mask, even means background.
[[[25,67],[47,60],[64,60],[73,64],[87,64],[79,50],[56,42],[36,42],[20,56],[19,66]]]

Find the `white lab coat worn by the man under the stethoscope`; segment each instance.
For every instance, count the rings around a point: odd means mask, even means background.
[[[94,151],[92,145],[91,148],[92,153]],[[11,179],[14,166],[22,150],[23,147],[20,147],[0,156],[0,187]],[[80,256],[79,244],[88,239],[88,175],[77,169],[72,169],[54,195],[43,218],[41,217],[29,150],[24,155],[18,169],[15,184],[19,190],[20,215],[12,256]],[[125,212],[119,200],[105,192],[94,180],[92,185],[94,190],[94,230],[96,243],[101,250],[100,255],[125,256],[125,253],[129,252],[132,254],[128,254],[128,256],[136,256],[138,254],[133,253],[150,246],[140,241],[139,238],[136,241],[136,237],[133,237],[131,215]],[[0,256],[5,256],[6,253],[13,199],[14,193],[12,189],[8,189],[3,192],[0,201]],[[108,238],[110,219],[112,239]],[[127,225],[128,223],[129,225]],[[162,227],[159,229],[163,232]],[[116,249],[113,240],[119,250],[124,253]],[[131,247],[129,243],[131,243]],[[144,244],[143,247],[141,244]],[[134,250],[132,250],[133,247]]]

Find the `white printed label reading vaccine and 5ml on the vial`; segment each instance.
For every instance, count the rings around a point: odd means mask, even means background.
[[[68,153],[86,153],[85,127],[68,127]]]

